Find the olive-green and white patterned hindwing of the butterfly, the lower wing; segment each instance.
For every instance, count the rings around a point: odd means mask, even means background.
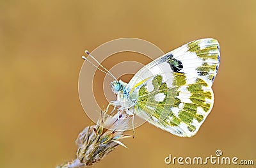
[[[212,89],[197,77],[170,73],[173,82],[179,80],[172,88],[166,85],[163,74],[148,78],[141,84],[135,109],[137,115],[149,123],[174,135],[191,137],[212,109]],[[150,85],[154,89],[148,89]]]

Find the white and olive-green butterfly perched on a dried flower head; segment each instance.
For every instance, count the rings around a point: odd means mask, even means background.
[[[129,83],[108,72],[115,79],[111,89],[117,97],[109,105],[171,134],[191,137],[212,110],[211,86],[219,65],[217,40],[186,43],[143,66]]]

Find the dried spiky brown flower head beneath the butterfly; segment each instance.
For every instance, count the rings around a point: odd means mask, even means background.
[[[119,114],[119,116],[117,114],[108,116],[102,113],[97,125],[87,126],[78,135],[76,140],[78,146],[77,158],[57,168],[90,166],[102,160],[118,145],[127,148],[120,140],[131,137],[131,135],[124,135],[128,120],[125,113]]]

